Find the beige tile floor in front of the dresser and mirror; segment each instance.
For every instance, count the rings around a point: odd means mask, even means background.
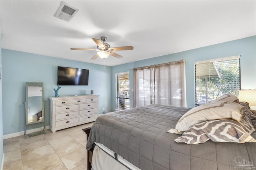
[[[4,139],[4,170],[86,170],[87,123],[52,133]]]

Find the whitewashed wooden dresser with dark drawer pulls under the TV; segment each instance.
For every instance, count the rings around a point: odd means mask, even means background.
[[[50,98],[50,129],[60,129],[95,121],[98,117],[99,95]]]

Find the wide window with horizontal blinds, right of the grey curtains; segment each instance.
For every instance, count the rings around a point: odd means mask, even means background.
[[[195,63],[195,106],[210,103],[223,94],[238,96],[240,56]]]

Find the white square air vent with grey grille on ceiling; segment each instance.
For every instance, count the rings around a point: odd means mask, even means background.
[[[58,10],[55,12],[54,16],[56,18],[60,18],[64,21],[70,21],[71,18],[78,12],[79,10],[69,6],[65,2],[60,2],[60,6]]]

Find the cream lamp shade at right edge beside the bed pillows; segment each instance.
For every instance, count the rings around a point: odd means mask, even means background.
[[[250,106],[256,106],[256,90],[240,90],[238,98],[240,102],[248,102]]]

